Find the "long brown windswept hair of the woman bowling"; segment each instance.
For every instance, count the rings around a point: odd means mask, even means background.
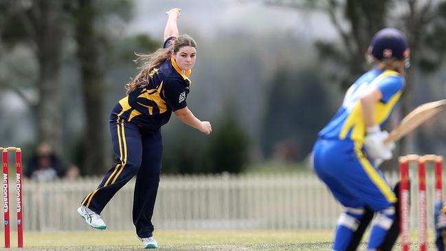
[[[159,67],[161,63],[164,63],[169,57],[171,52],[177,54],[179,49],[185,46],[191,46],[197,48],[197,43],[195,43],[194,39],[190,37],[188,34],[182,34],[177,39],[175,39],[175,43],[170,45],[164,49],[158,49],[153,54],[137,54],[137,58],[133,61],[138,63],[140,61],[144,62],[144,65],[140,67],[141,71],[138,73],[135,78],[131,79],[129,83],[126,84],[126,93],[129,95],[132,91],[139,87],[144,87],[148,85],[148,75],[152,72],[153,69]]]

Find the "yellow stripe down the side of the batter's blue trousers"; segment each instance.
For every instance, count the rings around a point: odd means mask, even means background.
[[[392,189],[388,186],[387,182],[379,175],[379,173],[375,170],[375,167],[370,164],[370,162],[364,157],[364,154],[361,151],[361,144],[355,142],[355,153],[358,157],[359,162],[361,163],[362,168],[366,171],[368,177],[372,179],[372,182],[375,183],[377,188],[381,191],[381,193],[386,197],[387,201],[390,203],[394,203],[397,201],[397,197],[395,197]]]

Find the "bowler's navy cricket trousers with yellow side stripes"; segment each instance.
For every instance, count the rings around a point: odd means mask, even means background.
[[[161,129],[142,134],[136,124],[114,120],[110,122],[110,133],[115,162],[98,188],[85,197],[82,205],[100,214],[113,195],[136,175],[133,223],[138,237],[152,237],[151,219],[163,151]]]

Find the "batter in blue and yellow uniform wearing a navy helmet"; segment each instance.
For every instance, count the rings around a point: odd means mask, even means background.
[[[320,131],[313,149],[314,169],[344,206],[337,221],[333,250],[346,250],[368,206],[375,212],[368,250],[377,250],[394,221],[397,198],[377,166],[392,158],[393,146],[381,127],[404,86],[409,48],[405,35],[385,28],[369,47],[373,69],[348,89],[334,118]]]

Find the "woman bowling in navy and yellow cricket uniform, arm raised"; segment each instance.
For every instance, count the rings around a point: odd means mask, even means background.
[[[210,134],[210,122],[197,119],[186,105],[191,69],[196,59],[195,41],[179,36],[180,9],[166,12],[164,48],[150,55],[139,55],[144,66],[126,85],[127,96],[113,108],[110,133],[115,163],[98,188],[82,200],[78,214],[89,226],[105,229],[102,209],[122,186],[136,175],[133,197],[133,223],[144,248],[157,248],[151,221],[161,173],[161,129],[172,111],[177,118],[199,131]]]

